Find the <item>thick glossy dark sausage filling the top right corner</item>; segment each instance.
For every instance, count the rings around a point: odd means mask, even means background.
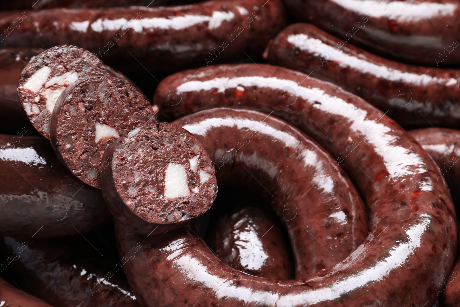
[[[456,0],[286,0],[290,12],[354,45],[424,66],[460,64]]]

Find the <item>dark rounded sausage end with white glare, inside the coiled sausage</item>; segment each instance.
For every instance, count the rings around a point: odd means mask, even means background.
[[[235,209],[214,222],[206,243],[234,269],[264,278],[293,279],[291,247],[281,227],[260,208]]]

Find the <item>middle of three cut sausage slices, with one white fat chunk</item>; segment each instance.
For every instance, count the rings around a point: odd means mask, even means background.
[[[51,118],[51,145],[81,181],[100,188],[100,164],[107,146],[154,119],[150,102],[126,81],[91,77],[67,87]]]

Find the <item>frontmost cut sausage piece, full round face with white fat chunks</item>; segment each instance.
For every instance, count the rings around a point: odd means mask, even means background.
[[[134,128],[109,146],[103,166],[102,193],[110,211],[138,233],[189,222],[205,213],[217,195],[215,171],[203,146],[166,122]]]

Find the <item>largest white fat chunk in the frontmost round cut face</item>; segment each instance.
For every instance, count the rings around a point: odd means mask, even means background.
[[[190,195],[187,184],[185,166],[177,163],[169,163],[165,176],[165,197],[176,198]]]

